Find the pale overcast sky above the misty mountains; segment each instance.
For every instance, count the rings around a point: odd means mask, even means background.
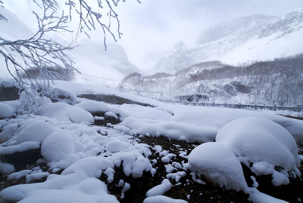
[[[28,6],[32,0],[4,0],[5,8],[16,13],[30,28],[36,19]],[[63,1],[63,0],[60,0]],[[91,0],[88,0],[91,1]],[[130,62],[140,68],[148,52],[162,52],[182,40],[192,47],[208,26],[254,14],[283,16],[303,6],[302,0],[126,0],[115,7],[123,33],[118,44],[125,48]],[[90,34],[103,42],[103,34]],[[107,42],[112,42],[110,36]]]

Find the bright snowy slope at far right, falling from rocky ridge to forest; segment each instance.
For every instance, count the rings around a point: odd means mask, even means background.
[[[221,57],[223,62],[267,60],[303,52],[303,7],[264,26],[258,35]]]

